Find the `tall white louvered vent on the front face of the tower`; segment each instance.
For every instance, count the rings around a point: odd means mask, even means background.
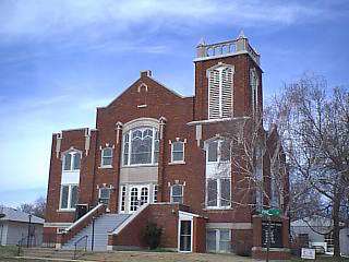
[[[231,66],[220,66],[208,70],[208,118],[232,117]]]

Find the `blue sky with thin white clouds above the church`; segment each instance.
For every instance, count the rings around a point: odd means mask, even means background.
[[[94,127],[141,70],[194,92],[195,46],[241,29],[264,99],[304,71],[349,84],[348,1],[0,1],[0,204],[46,195],[51,134]]]

